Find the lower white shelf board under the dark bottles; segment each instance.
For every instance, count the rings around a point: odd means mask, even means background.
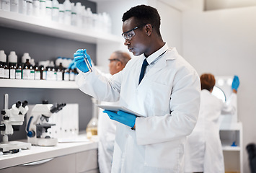
[[[0,87],[41,88],[41,89],[78,89],[75,81],[45,81],[26,79],[0,79]]]

